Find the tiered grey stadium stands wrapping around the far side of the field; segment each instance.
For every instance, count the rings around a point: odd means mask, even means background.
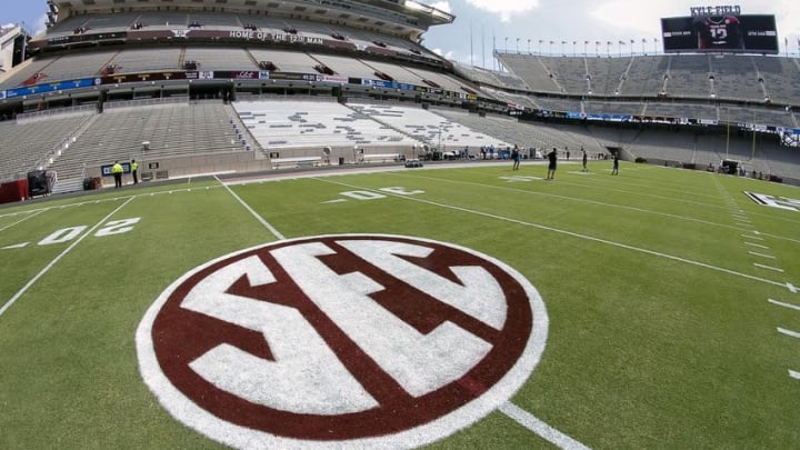
[[[162,10],[114,3],[84,2],[61,14],[31,41],[33,58],[0,80],[0,119],[20,118],[2,123],[9,141],[0,174],[44,164],[74,179],[83,167],[141,154],[143,141],[150,156],[187,161],[250,147],[249,158],[271,167],[334,156],[380,161],[416,146],[516,143],[576,154],[580,147],[623,148],[687,164],[730,156],[800,180],[797,158],[777,143],[781,128],[800,128],[798,59],[498,52],[502,69],[488,70],[446,61],[420,43],[429,27],[452,17],[390,2],[353,1],[353,10],[327,3],[302,16],[284,2],[224,10],[188,0]],[[21,151],[33,121],[53,122],[59,137]],[[726,140],[722,151],[729,126],[738,140]],[[747,142],[753,127],[754,149]],[[320,156],[324,147],[333,152]],[[353,147],[361,157],[348,157]]]

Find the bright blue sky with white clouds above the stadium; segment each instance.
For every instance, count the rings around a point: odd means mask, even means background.
[[[494,68],[492,48],[528,52],[582,53],[584,42],[589,53],[631,50],[653,51],[659,37],[660,18],[689,16],[689,8],[703,2],[693,0],[419,0],[453,13],[450,26],[434,27],[424,37],[424,46],[448,59]],[[0,22],[24,22],[28,29],[43,29],[46,0],[3,0]],[[778,22],[781,54],[787,50],[798,54],[800,39],[800,1],[749,0],[738,2],[704,2],[706,4],[738,4],[742,13],[774,13]],[[642,48],[642,39],[647,43]],[[788,39],[788,49],[784,40]],[[630,41],[636,43],[630,47]],[[542,41],[540,44],[539,41]],[[553,41],[551,46],[549,42]],[[619,41],[626,47],[618,46]],[[566,43],[562,43],[566,42]],[[573,46],[572,42],[576,42]],[[660,48],[660,44],[657,46]]]

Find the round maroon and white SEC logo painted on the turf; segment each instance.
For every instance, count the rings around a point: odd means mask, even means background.
[[[507,402],[548,317],[504,263],[419,238],[280,241],[184,274],[137,330],[179,421],[238,448],[411,448]]]

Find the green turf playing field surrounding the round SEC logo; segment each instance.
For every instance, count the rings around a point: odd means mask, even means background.
[[[0,209],[0,448],[221,448],[142,381],[146,311],[213,259],[341,233],[472,249],[547,307],[541,361],[510,404],[567,440],[503,409],[433,448],[800,447],[800,189],[590,169],[314,172]]]

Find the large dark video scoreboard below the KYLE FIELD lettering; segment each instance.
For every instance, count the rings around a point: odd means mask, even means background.
[[[666,53],[778,53],[774,16],[698,14],[661,19]]]

